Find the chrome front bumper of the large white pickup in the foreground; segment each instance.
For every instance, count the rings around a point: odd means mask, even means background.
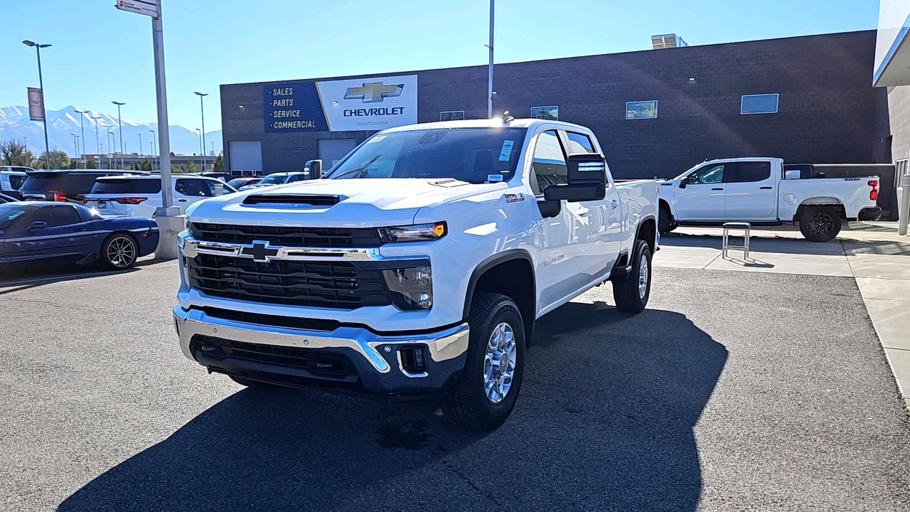
[[[358,327],[339,327],[327,333],[242,323],[180,306],[174,307],[174,323],[180,349],[193,361],[197,358],[190,342],[197,334],[243,343],[356,353],[350,357],[351,363],[357,366],[360,379],[372,393],[440,387],[450,374],[464,367],[470,334],[467,323],[424,334],[379,335]],[[400,349],[414,344],[426,346],[430,355],[427,372],[422,374],[407,373],[400,361]],[[397,372],[392,372],[393,366]]]

